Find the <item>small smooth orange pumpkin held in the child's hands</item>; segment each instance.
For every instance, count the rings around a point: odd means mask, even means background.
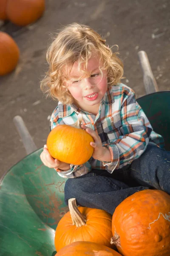
[[[48,135],[47,147],[52,157],[65,162],[80,165],[87,162],[94,148],[90,134],[70,125],[58,125]]]

